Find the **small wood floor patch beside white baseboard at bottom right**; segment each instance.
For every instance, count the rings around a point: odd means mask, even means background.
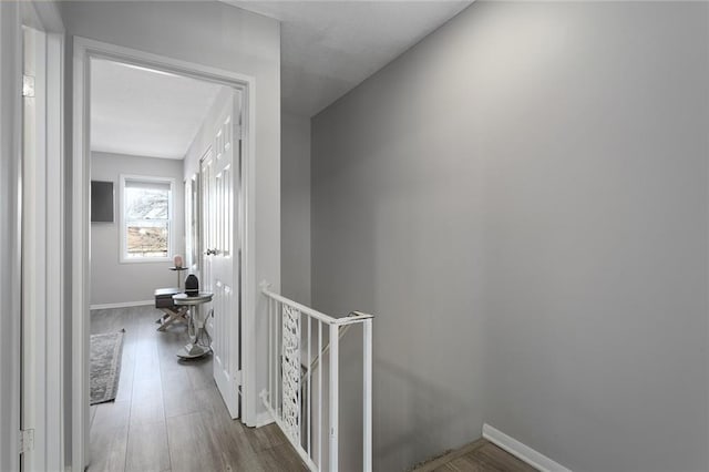
[[[534,472],[536,469],[479,439],[461,449],[430,460],[413,469],[414,472]]]

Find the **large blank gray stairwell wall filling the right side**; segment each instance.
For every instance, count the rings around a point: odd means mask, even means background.
[[[707,3],[476,2],[312,126],[312,299],[377,316],[377,470],[483,422],[709,469]]]

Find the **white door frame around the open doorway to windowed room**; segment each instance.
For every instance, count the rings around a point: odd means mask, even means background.
[[[256,283],[255,255],[255,183],[256,183],[256,115],[253,76],[182,61],[145,51],[119,47],[101,41],[74,37],[73,50],[73,136],[72,136],[72,469],[83,471],[88,464],[89,439],[89,295],[90,295],[90,219],[89,188],[90,158],[90,63],[91,59],[109,59],[156,69],[178,75],[206,80],[232,86],[242,93],[242,343],[243,390],[242,421],[256,425],[256,359],[255,314]],[[79,460],[81,458],[81,460]]]

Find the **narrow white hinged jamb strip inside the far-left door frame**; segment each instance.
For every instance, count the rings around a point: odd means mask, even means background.
[[[31,8],[29,8],[31,10]],[[27,23],[25,23],[27,24]],[[33,449],[22,456],[23,470],[47,470],[48,288],[47,237],[47,34],[22,31],[24,73],[34,91],[23,98],[22,145],[22,417],[21,428],[33,430]],[[59,230],[59,228],[53,228]],[[59,318],[54,316],[54,318]],[[52,353],[54,355],[54,353]],[[53,366],[52,366],[53,367]]]

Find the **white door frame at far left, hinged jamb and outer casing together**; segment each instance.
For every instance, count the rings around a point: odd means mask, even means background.
[[[35,57],[30,154],[23,152],[22,428],[34,430],[22,456],[27,470],[64,468],[64,161],[63,25],[55,6],[23,4]],[[23,120],[27,123],[27,120]],[[33,230],[31,230],[33,229]],[[47,237],[58,235],[58,237]],[[54,336],[58,334],[59,336]],[[58,393],[59,392],[59,393]]]

